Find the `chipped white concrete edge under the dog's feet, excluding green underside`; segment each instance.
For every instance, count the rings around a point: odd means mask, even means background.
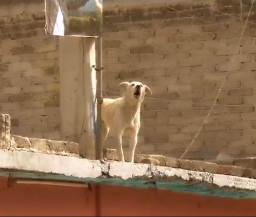
[[[190,171],[167,166],[150,164],[131,164],[115,161],[87,160],[72,156],[61,156],[26,151],[0,150],[0,168],[2,171],[15,170],[24,173],[42,173],[64,175],[72,179],[94,182],[122,182],[146,180],[148,182],[164,181],[172,185],[173,181],[186,183],[204,183],[217,187],[256,190],[256,180],[244,177]],[[95,181],[96,180],[96,181]]]

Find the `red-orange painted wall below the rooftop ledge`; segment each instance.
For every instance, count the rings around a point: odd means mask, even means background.
[[[96,192],[96,186],[7,188],[7,179],[0,178],[0,216],[256,216],[256,200],[111,185],[98,187],[97,200]]]

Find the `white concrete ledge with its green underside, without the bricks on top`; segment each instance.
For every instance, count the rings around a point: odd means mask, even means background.
[[[168,166],[0,150],[0,175],[15,179],[112,183],[233,198],[256,198],[256,180]],[[215,187],[214,187],[215,186]]]

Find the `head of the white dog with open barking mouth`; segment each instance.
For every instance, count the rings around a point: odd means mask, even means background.
[[[125,93],[125,96],[131,101],[142,102],[145,94],[152,94],[150,88],[138,81],[122,82],[119,88]]]

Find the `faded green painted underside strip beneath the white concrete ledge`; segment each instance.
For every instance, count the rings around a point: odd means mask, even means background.
[[[65,176],[59,174],[41,174],[41,173],[28,173],[18,171],[0,171],[0,176],[8,177],[9,174],[13,178],[18,179],[36,179],[36,180],[58,180],[58,181],[70,181],[70,182],[86,182],[86,183],[98,183],[98,184],[112,184],[133,188],[148,188],[148,189],[163,189],[171,190],[182,193],[192,193],[205,196],[216,196],[222,198],[250,198],[256,199],[255,191],[231,189],[227,187],[218,187],[213,184],[194,183],[188,184],[185,181],[152,181],[145,179],[129,179],[122,180],[118,178],[77,178],[72,176]]]

